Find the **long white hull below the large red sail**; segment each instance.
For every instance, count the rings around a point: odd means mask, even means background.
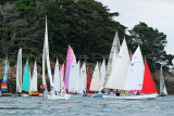
[[[125,100],[139,100],[139,99],[154,99],[157,98],[157,93],[151,93],[151,94],[139,94],[139,95],[105,95],[103,94],[103,99],[125,99]]]

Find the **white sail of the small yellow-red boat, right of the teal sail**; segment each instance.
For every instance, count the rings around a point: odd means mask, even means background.
[[[33,78],[30,79],[29,90],[37,91],[37,64],[36,64],[36,61],[35,61],[35,66],[34,66]]]

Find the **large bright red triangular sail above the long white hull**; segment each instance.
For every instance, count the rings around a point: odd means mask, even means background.
[[[158,92],[153,78],[151,76],[147,61],[145,61],[145,74],[142,83],[142,93],[154,93]]]

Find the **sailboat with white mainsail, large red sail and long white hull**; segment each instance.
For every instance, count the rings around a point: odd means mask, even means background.
[[[144,73],[145,72],[145,73]],[[103,95],[103,98],[114,99],[154,99],[157,96],[157,89],[151,77],[147,61],[144,67],[144,61],[141,57],[140,48],[135,51],[132,62],[128,67],[128,73],[125,80],[125,87],[121,90],[142,90],[139,95]]]

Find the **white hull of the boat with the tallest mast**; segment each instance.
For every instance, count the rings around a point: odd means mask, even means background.
[[[48,100],[59,100],[59,99],[67,100],[67,99],[70,99],[70,94],[46,95],[46,99],[48,99]]]

